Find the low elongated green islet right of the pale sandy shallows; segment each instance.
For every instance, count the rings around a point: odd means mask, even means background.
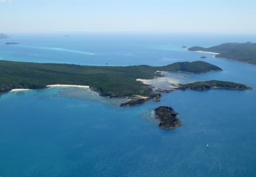
[[[227,90],[251,90],[251,87],[245,86],[244,84],[238,84],[228,81],[200,81],[189,84],[179,84],[180,87],[177,89],[181,90],[210,90],[210,89],[227,89]]]

